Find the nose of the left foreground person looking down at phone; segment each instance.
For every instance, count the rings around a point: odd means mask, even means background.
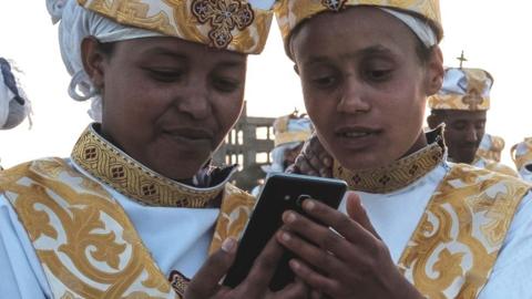
[[[176,103],[177,109],[194,120],[205,120],[212,114],[209,92],[206,80],[191,80],[181,90]]]

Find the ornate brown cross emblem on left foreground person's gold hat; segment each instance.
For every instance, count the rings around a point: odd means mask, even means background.
[[[232,31],[244,30],[255,18],[252,6],[237,0],[194,0],[192,12],[204,24],[209,22],[208,37],[214,47],[225,49],[233,41]]]

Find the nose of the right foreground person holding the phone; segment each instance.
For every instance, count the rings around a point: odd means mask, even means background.
[[[364,84],[355,76],[347,76],[337,110],[342,113],[367,113],[371,110],[371,105],[365,97]]]

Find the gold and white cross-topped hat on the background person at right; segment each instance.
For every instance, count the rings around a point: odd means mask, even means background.
[[[429,96],[431,110],[487,111],[493,78],[480,69],[446,70],[441,90]]]

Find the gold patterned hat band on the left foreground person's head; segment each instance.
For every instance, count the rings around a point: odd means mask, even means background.
[[[272,11],[245,0],[78,0],[113,21],[247,54],[266,44]]]

